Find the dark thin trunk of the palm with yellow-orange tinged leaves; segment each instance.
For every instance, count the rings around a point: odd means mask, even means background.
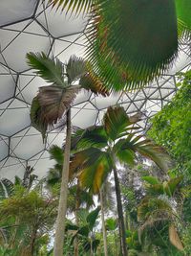
[[[125,235],[125,224],[122,212],[122,203],[120,196],[120,186],[117,177],[117,169],[114,166],[114,178],[115,178],[115,187],[116,187],[116,195],[117,195],[117,214],[118,214],[118,227],[119,227],[119,239],[121,246],[122,256],[127,256],[127,245],[126,245],[126,235]]]

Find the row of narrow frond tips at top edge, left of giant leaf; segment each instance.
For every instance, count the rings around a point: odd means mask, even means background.
[[[57,5],[57,9],[61,7],[62,11],[75,14],[89,12],[95,2],[95,0],[49,0],[53,7]]]

